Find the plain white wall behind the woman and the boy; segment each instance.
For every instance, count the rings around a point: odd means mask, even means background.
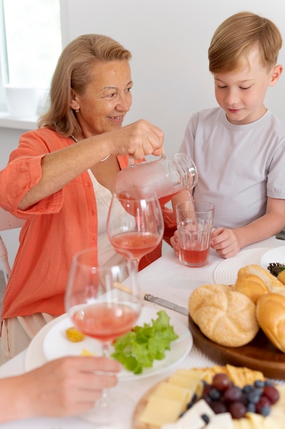
[[[279,27],[284,47],[285,2],[281,0],[62,0],[64,45],[80,34],[100,33],[133,53],[133,107],[125,123],[146,118],[165,132],[165,150],[180,146],[189,115],[216,105],[208,71],[208,45],[228,16],[249,10]],[[285,120],[285,72],[269,88],[267,107]]]

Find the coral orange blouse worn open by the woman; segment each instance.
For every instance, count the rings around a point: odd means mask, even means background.
[[[85,171],[62,190],[27,210],[18,202],[41,177],[41,160],[50,152],[74,144],[68,138],[40,128],[26,132],[12,151],[7,167],[0,171],[0,204],[13,215],[26,219],[20,245],[8,281],[2,319],[47,312],[62,315],[68,271],[75,253],[97,245],[96,197],[90,174]],[[128,156],[118,156],[121,169]],[[163,208],[166,240],[176,229],[172,210]],[[161,245],[141,260],[144,267],[161,256]]]

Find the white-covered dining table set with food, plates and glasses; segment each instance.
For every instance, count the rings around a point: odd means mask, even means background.
[[[268,252],[272,248],[282,247],[285,245],[283,240],[275,237],[268,238],[267,240],[254,243],[241,249],[241,252],[233,258],[223,259],[213,249],[210,250],[208,265],[204,267],[186,267],[181,265],[179,259],[174,254],[171,247],[163,253],[161,258],[152,262],[148,267],[139,271],[138,278],[141,286],[141,293],[151,294],[156,297],[162,297],[169,302],[178,304],[179,306],[188,308],[188,300],[191,292],[203,284],[212,284],[217,282],[218,267],[223,267],[227,261],[229,267],[234,267],[234,262],[241,260],[246,265],[247,260],[249,263],[260,261],[260,256]],[[253,262],[252,262],[253,261]],[[189,319],[187,315],[181,314],[174,310],[164,308],[159,304],[148,302],[142,299],[143,308],[152,308],[154,310],[165,310],[170,317],[175,317],[187,328],[189,328]],[[50,323],[53,323],[50,322]],[[47,329],[46,326],[42,330]],[[191,337],[191,336],[190,336]],[[27,355],[29,354],[29,347],[26,350],[14,356],[7,363],[0,367],[0,378],[8,376],[16,376],[24,373],[30,368],[27,367]],[[193,345],[187,356],[180,360],[177,365],[179,368],[192,368],[192,367],[208,367],[215,364],[209,356],[198,349],[193,342]],[[133,428],[133,413],[137,404],[144,397],[146,393],[161,380],[164,380],[171,373],[175,371],[175,365],[165,368],[159,373],[150,373],[146,377],[135,376],[131,380],[119,380],[116,387],[112,388],[113,394],[118,397],[118,407],[120,407],[120,394],[124,393],[131,399],[129,407],[129,414],[126,416],[126,421],[118,421],[111,426],[112,429],[131,429]],[[27,386],[27,391],[29,386]],[[1,406],[1,405],[0,405]],[[0,413],[1,413],[0,408]],[[101,426],[102,429],[107,426]],[[110,428],[110,426],[108,426]],[[29,419],[22,419],[18,421],[11,421],[10,423],[0,424],[1,429],[92,429],[98,428],[96,424],[88,421],[83,416],[77,417],[34,417]]]

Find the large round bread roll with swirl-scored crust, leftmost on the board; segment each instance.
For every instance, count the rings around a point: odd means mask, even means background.
[[[225,284],[195,289],[189,297],[189,314],[208,339],[229,347],[249,343],[259,330],[252,300]]]

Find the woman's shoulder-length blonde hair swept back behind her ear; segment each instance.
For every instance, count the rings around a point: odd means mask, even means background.
[[[131,52],[108,36],[85,34],[72,40],[59,56],[49,91],[49,109],[38,125],[64,136],[81,134],[76,114],[70,108],[71,89],[82,95],[92,81],[94,64],[114,60],[131,60]]]

